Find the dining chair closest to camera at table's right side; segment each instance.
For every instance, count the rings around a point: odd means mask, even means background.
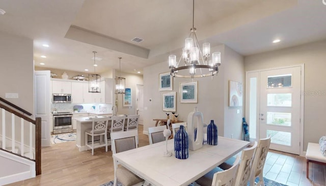
[[[235,186],[235,178],[238,171],[240,157],[237,156],[234,164],[228,170],[219,167],[214,168],[201,178],[196,180],[196,185],[202,186]]]

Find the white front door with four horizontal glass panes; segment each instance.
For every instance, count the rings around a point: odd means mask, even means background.
[[[300,154],[301,67],[260,72],[260,138],[270,149]]]

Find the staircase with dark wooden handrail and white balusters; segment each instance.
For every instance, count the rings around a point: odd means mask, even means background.
[[[41,174],[41,118],[0,98],[0,185]]]

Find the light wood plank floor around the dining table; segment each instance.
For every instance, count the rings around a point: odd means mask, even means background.
[[[139,127],[139,146],[148,145],[148,136]],[[270,150],[264,167],[268,179],[292,185],[326,185],[325,166],[310,164],[310,179],[306,178],[306,159],[289,153]],[[75,142],[65,142],[42,148],[42,174],[36,178],[9,185],[94,185],[113,180],[113,159],[110,147],[92,152],[79,152]],[[168,186],[168,185],[167,185]],[[266,185],[268,186],[268,185]]]

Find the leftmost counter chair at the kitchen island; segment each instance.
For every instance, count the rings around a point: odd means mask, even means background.
[[[105,151],[107,152],[107,121],[108,117],[103,118],[93,118],[92,119],[92,129],[85,130],[85,145],[86,148],[92,149],[92,155],[94,155],[94,148],[105,146]],[[88,143],[88,136],[92,137],[92,144]],[[100,136],[99,144],[94,146],[94,137]],[[102,144],[102,137],[104,144]]]

